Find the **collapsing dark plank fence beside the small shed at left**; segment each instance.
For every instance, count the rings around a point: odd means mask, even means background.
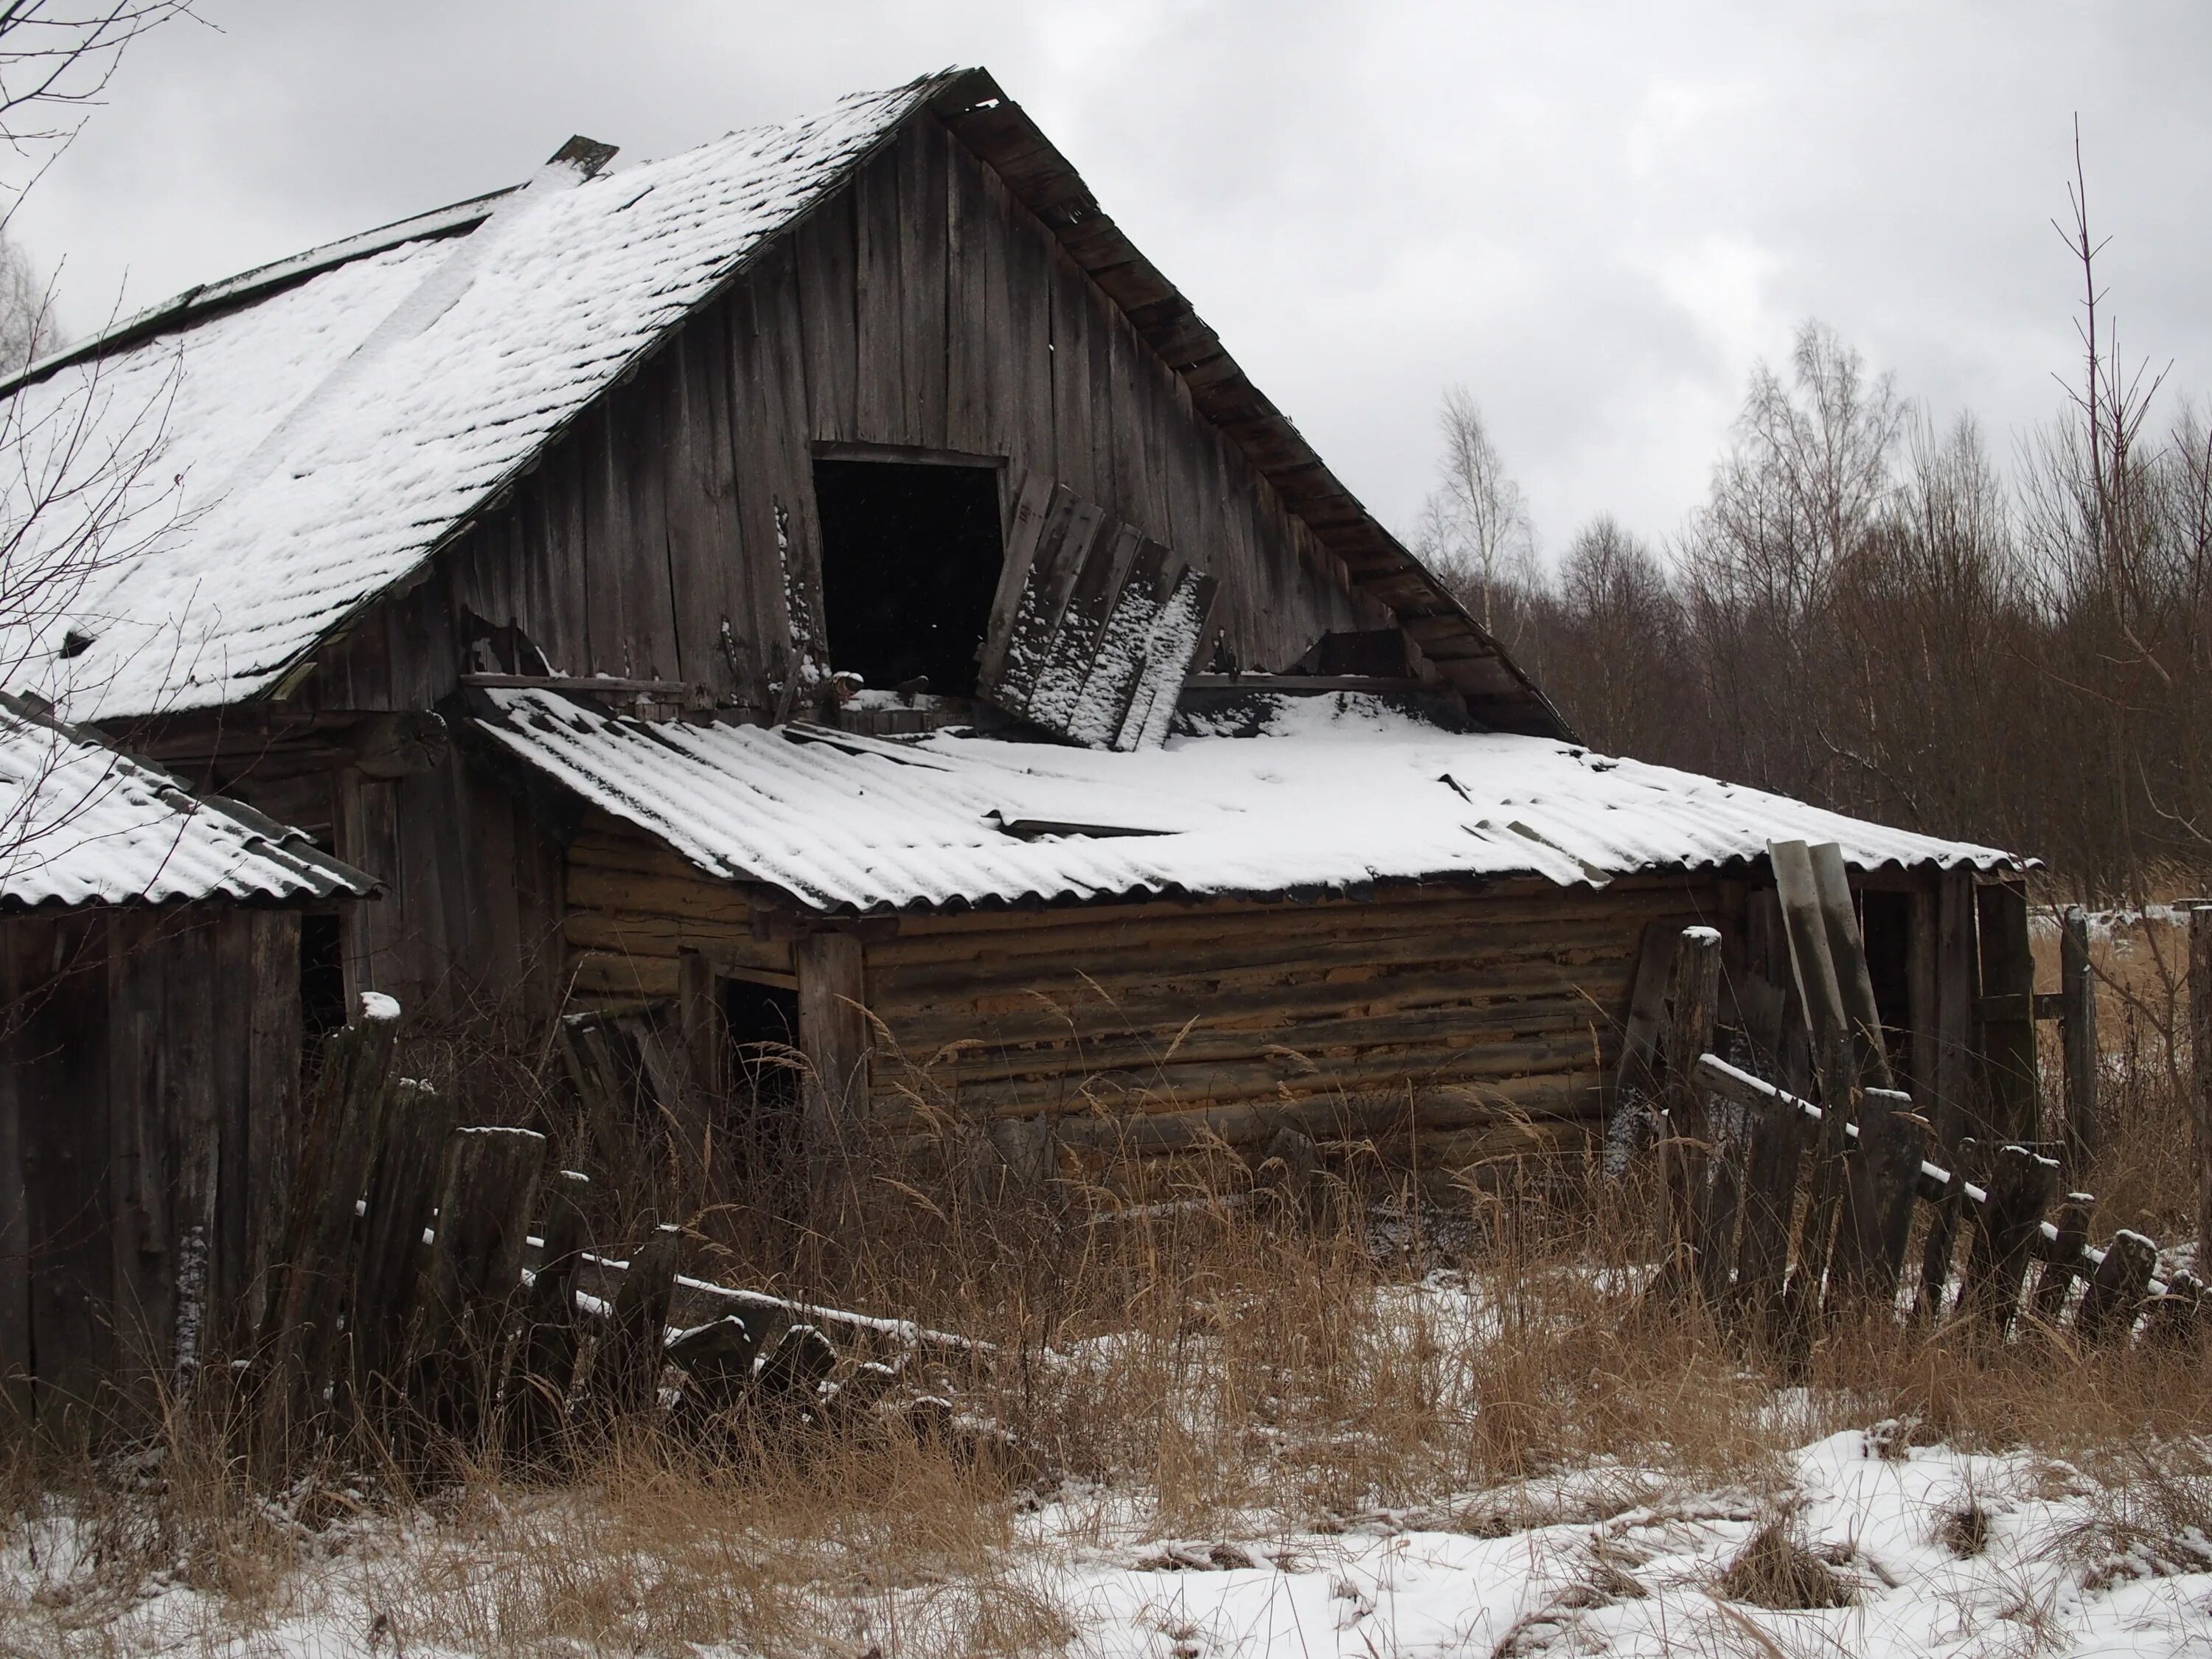
[[[546,1168],[535,1130],[458,1126],[438,1091],[394,1079],[398,1009],[365,1002],[325,1040],[285,1267],[246,1363],[265,1464],[343,1422],[524,1458],[639,1413],[825,1422],[876,1407],[914,1352],[967,1347],[688,1279],[677,1228],[588,1248],[586,1179]]]

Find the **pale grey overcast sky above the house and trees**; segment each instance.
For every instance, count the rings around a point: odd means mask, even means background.
[[[984,64],[1387,522],[1464,383],[1546,551],[1703,495],[1832,323],[2008,451],[2075,354],[2073,115],[2130,354],[2212,387],[2212,7],[199,0],[13,223],[75,330],[520,179]],[[2168,409],[2172,405],[2168,403]]]

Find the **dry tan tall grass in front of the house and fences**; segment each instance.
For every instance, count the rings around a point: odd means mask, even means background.
[[[104,1462],[13,1449],[0,1628],[18,1652],[124,1652],[175,1601],[148,1586],[184,1584],[201,1624],[170,1644],[323,1617],[400,1652],[1051,1652],[1068,1615],[1015,1548],[1044,1498],[1099,1544],[1378,1515],[1493,1535],[1668,1489],[1774,1502],[1785,1451],[1878,1420],[2115,1473],[2148,1458],[2161,1480],[2084,1551],[2157,1535],[2185,1559],[2212,1511],[2201,1356],[1871,1321],[1785,1378],[1644,1296],[1632,1194],[1584,1179],[1491,1179],[1458,1212],[1356,1194],[1325,1225],[1250,1186],[1095,1223],[1042,1192],[883,1181],[865,1248],[816,1254],[812,1290],[993,1345],[916,1376],[953,1429],[752,1420],[701,1449],[633,1425],[560,1484],[349,1444],[257,1491],[210,1391]]]

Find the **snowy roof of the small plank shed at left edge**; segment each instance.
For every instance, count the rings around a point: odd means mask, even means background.
[[[195,796],[166,772],[0,697],[0,909],[296,905],[374,889],[301,830],[237,801]]]

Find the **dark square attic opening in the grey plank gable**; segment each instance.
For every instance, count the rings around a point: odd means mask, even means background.
[[[973,697],[1004,560],[998,469],[816,460],[814,500],[832,668],[872,688],[927,679]]]

